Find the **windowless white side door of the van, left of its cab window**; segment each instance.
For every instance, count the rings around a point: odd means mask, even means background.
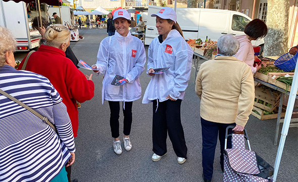
[[[198,24],[198,36],[202,40],[205,40],[207,36],[211,40],[218,40],[220,36],[228,34],[229,16],[229,12],[202,9]]]

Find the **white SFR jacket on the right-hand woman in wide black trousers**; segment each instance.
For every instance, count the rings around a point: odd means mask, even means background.
[[[142,103],[147,104],[158,99],[166,101],[168,96],[183,100],[188,85],[193,51],[180,33],[173,29],[160,43],[158,37],[152,40],[148,49],[147,73],[151,68],[166,68],[163,74],[151,77]]]

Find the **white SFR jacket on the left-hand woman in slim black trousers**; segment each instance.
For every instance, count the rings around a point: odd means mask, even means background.
[[[108,61],[109,60],[109,61]],[[106,37],[100,44],[95,66],[97,75],[105,74],[102,89],[104,101],[131,102],[141,98],[139,76],[144,71],[146,53],[140,39],[128,32],[126,37],[117,31]],[[112,85],[116,75],[125,77],[129,82],[120,86]]]

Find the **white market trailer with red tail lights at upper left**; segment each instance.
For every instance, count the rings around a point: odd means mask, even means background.
[[[39,47],[40,34],[32,27],[27,16],[26,3],[0,0],[0,26],[8,28],[17,40],[16,51],[29,51]]]

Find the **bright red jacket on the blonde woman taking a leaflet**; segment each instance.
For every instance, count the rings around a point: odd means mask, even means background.
[[[19,69],[22,68],[26,57]],[[40,45],[38,51],[31,54],[26,70],[45,76],[54,85],[67,107],[73,135],[76,137],[79,124],[76,101],[82,103],[92,99],[94,83],[86,79],[71,60],[65,57],[62,50],[48,45]]]

